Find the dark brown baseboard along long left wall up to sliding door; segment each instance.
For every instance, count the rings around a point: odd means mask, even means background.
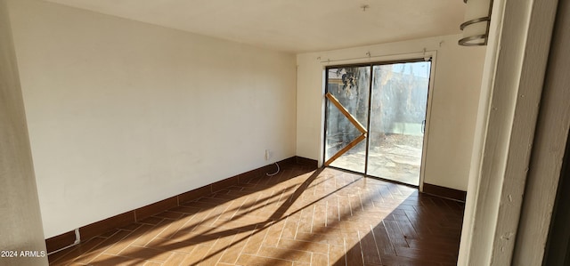
[[[277,163],[281,165],[281,167],[288,165],[304,165],[314,169],[316,169],[318,165],[318,162],[316,160],[297,156],[289,157]],[[109,230],[124,227],[133,222],[140,222],[148,217],[151,217],[154,214],[160,214],[167,209],[173,208],[175,206],[180,206],[180,204],[183,202],[197,199],[199,197],[204,197],[217,190],[225,189],[238,183],[248,182],[251,179],[258,178],[265,175],[265,173],[273,172],[274,170],[274,165],[272,164],[259,167],[246,173],[240,173],[238,175],[226,178],[222,181],[216,181],[209,185],[198,189],[192,189],[188,192],[184,192],[174,197],[168,197],[151,205],[142,206],[132,211],[128,211],[126,213],[118,214],[99,222],[85,225],[79,228],[79,234],[81,235],[82,240],[88,240],[90,238],[99,236]],[[69,231],[59,236],[45,239],[45,246],[47,246],[47,253],[52,253],[53,251],[60,250],[66,246],[70,246],[74,242],[75,231]]]

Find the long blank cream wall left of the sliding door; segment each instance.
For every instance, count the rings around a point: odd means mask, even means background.
[[[45,238],[295,155],[294,55],[9,8]]]

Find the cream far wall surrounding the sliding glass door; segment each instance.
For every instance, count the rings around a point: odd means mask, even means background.
[[[425,48],[428,52],[436,51],[436,73],[430,95],[433,100],[424,181],[467,190],[485,48],[462,47],[457,44],[459,38],[437,36],[298,54],[297,155],[322,163],[323,70],[328,64],[418,58]]]

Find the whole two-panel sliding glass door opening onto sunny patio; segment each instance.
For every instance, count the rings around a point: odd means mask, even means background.
[[[327,69],[325,165],[419,185],[431,62]]]

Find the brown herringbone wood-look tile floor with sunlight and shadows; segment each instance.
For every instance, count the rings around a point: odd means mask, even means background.
[[[291,165],[112,230],[52,265],[455,265],[463,204]]]

